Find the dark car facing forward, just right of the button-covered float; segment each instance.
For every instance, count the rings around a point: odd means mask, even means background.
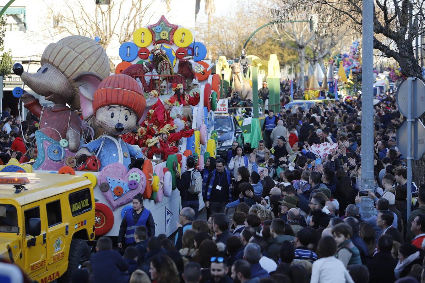
[[[238,120],[232,114],[215,114],[214,130],[218,134],[216,158],[223,158],[227,162],[227,152],[232,149],[232,143],[237,141],[240,145],[244,145],[244,135]]]

